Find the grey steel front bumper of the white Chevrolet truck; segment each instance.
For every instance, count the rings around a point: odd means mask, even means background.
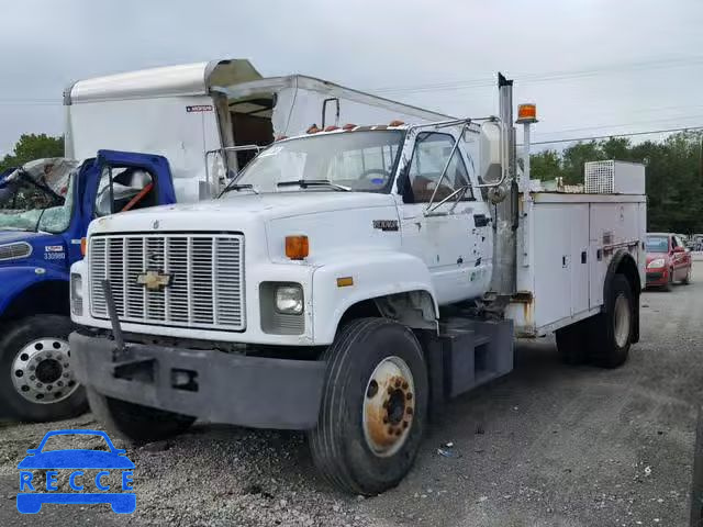
[[[217,350],[69,337],[76,375],[97,392],[211,423],[310,429],[317,423],[326,363]]]

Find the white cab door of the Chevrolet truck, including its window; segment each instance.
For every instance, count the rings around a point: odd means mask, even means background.
[[[439,204],[469,184],[462,150],[453,153],[454,143],[447,132],[419,133],[399,186],[403,249],[425,262],[440,304],[479,296],[490,281],[486,204],[470,188]]]

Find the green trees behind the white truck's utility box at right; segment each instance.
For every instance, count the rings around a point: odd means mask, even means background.
[[[561,153],[548,149],[531,156],[531,175],[582,183],[583,164],[606,159],[645,164],[648,231],[703,233],[703,134],[681,132],[637,144],[611,137],[577,143]]]

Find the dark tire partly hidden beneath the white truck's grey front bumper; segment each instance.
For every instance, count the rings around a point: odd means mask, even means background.
[[[196,417],[107,397],[88,388],[93,415],[113,433],[132,442],[150,442],[182,434]]]

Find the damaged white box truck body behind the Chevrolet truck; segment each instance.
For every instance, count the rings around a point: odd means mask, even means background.
[[[448,117],[302,75],[263,78],[244,59],[80,80],[65,90],[64,105],[66,157],[100,149],[161,155],[179,203],[216,197],[257,146],[312,125]]]

